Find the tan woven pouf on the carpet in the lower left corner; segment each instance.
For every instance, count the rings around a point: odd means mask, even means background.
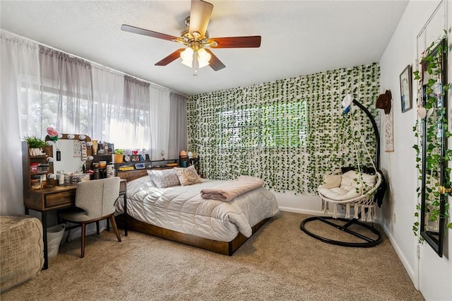
[[[28,281],[44,264],[42,224],[30,216],[0,216],[0,292]]]

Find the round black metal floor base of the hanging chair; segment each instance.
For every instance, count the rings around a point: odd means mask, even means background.
[[[340,240],[331,240],[326,237],[321,237],[320,235],[316,235],[313,232],[306,229],[305,225],[311,221],[314,220],[320,220],[323,223],[326,223],[327,225],[330,225],[340,231],[346,232],[349,235],[352,235],[354,237],[358,237],[362,242],[343,242]],[[330,220],[340,220],[345,222],[344,225],[339,225],[336,223],[331,222]],[[370,230],[372,233],[376,235],[376,239],[368,237],[366,235],[363,235],[355,230],[350,230],[350,226],[357,225],[359,228],[365,228],[363,230]],[[374,247],[377,244],[379,244],[382,240],[381,233],[376,230],[374,227],[367,225],[365,223],[360,222],[357,219],[349,220],[347,218],[333,218],[331,216],[314,216],[312,218],[306,218],[302,220],[302,223],[300,223],[299,228],[306,232],[307,235],[316,238],[317,240],[321,240],[322,242],[326,242],[328,244],[337,244],[344,247],[361,247],[361,248],[368,248],[368,247]]]

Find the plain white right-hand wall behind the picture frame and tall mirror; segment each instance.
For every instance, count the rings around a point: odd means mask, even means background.
[[[417,203],[417,170],[415,168],[415,151],[412,148],[415,144],[412,126],[416,119],[417,85],[414,81],[413,109],[402,113],[400,110],[399,76],[408,64],[412,64],[413,70],[415,70],[417,35],[439,2],[410,1],[380,61],[381,92],[383,93],[386,89],[391,90],[394,100],[392,109],[394,152],[381,153],[381,169],[386,174],[389,190],[379,217],[413,283],[426,300],[452,300],[452,263],[446,258],[447,254],[440,258],[426,243],[421,245],[421,259],[420,261],[417,260],[417,239],[412,233]],[[448,6],[450,6],[448,13],[448,24],[450,26],[451,1],[448,1]],[[434,35],[439,37],[441,32],[434,33]],[[448,55],[450,61],[451,52]],[[452,78],[450,62],[448,68],[450,81]],[[452,107],[451,98],[449,93],[449,108]],[[451,114],[451,110],[448,114]],[[382,145],[383,139],[382,137]],[[448,240],[448,249],[452,250],[452,240]]]

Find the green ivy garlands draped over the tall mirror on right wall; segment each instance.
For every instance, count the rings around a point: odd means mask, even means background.
[[[426,112],[424,118],[418,118],[413,126],[413,131],[415,132],[415,137],[419,141],[422,141],[422,125],[427,124],[427,131],[424,133],[427,141],[426,155],[425,155],[425,189],[424,189],[424,200],[425,206],[425,216],[427,228],[429,223],[438,223],[440,218],[448,220],[448,210],[449,204],[444,200],[444,215],[440,212],[440,192],[439,186],[440,182],[437,180],[441,177],[441,167],[444,167],[444,187],[451,187],[451,168],[448,167],[448,163],[452,160],[452,149],[448,148],[444,151],[444,156],[441,156],[441,147],[443,145],[443,140],[448,139],[452,136],[452,133],[448,131],[448,120],[446,118],[446,108],[442,105],[438,105],[439,99],[444,95],[447,95],[450,83],[441,83],[441,73],[442,73],[442,57],[443,54],[447,54],[448,46],[447,42],[441,44],[441,40],[444,40],[447,36],[441,37],[438,41],[432,42],[429,47],[422,53],[422,60],[420,62],[422,68],[426,68],[424,72],[428,73],[428,81],[423,82],[423,74],[420,71],[414,71],[413,75],[415,80],[419,81],[419,93],[418,101],[422,99],[423,94],[425,94],[424,112]],[[440,42],[439,42],[440,41]],[[444,46],[443,46],[444,45]],[[437,47],[437,51],[433,52],[433,49]],[[423,69],[421,69],[423,70]],[[441,84],[442,90],[441,90]],[[424,87],[423,87],[424,85]],[[422,108],[420,110],[423,110]],[[422,181],[423,170],[422,170],[422,142],[421,144],[415,144],[413,148],[416,152],[416,168],[419,172],[418,179]],[[449,195],[446,192],[445,196]],[[417,187],[417,197],[422,198],[422,188]],[[419,242],[424,242],[424,238],[420,235],[420,221],[421,218],[420,211],[422,206],[417,203],[415,217],[417,221],[413,224],[412,230],[416,237],[418,237]],[[452,229],[452,223],[446,223],[447,228]]]

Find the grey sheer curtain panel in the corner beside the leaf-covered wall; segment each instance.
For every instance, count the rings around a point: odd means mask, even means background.
[[[188,151],[186,128],[186,97],[177,93],[169,93],[169,138],[168,157],[179,158],[179,152]]]

